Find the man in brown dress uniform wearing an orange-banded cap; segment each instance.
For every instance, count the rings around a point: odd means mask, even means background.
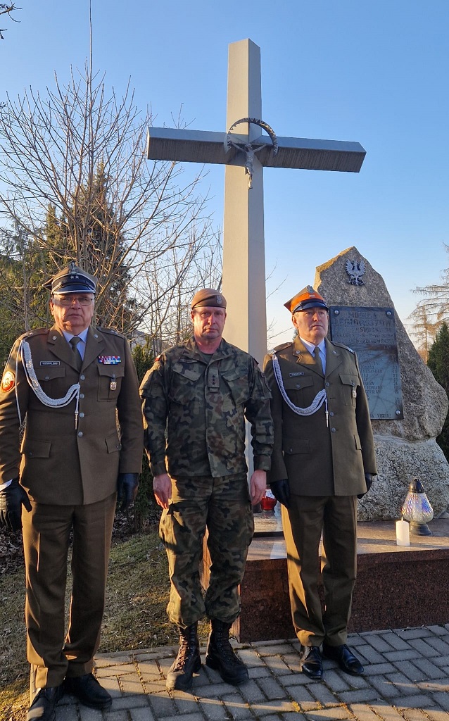
[[[268,476],[283,504],[290,605],[303,673],[321,678],[320,647],[347,673],[363,666],[347,647],[357,562],[357,495],[377,473],[368,400],[353,350],[326,338],[324,298],[307,286],[285,304],[298,332],[267,355],[275,446]],[[319,598],[323,535],[324,613]]]

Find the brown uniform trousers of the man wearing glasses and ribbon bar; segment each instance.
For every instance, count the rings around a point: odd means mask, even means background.
[[[35,686],[58,686],[93,668],[105,609],[114,493],[89,505],[32,503],[22,511],[25,553],[27,658]],[[72,593],[65,633],[67,556],[72,544]]]

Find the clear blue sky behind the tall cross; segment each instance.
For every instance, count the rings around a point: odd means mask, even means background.
[[[21,0],[0,17],[0,102],[82,70],[89,1]],[[228,44],[261,48],[262,120],[277,136],[357,141],[360,173],[264,169],[267,320],[290,340],[283,303],[315,267],[355,246],[407,320],[449,267],[448,0],[92,0],[94,69],[135,89],[154,125],[227,130]],[[224,169],[203,180],[223,221]]]

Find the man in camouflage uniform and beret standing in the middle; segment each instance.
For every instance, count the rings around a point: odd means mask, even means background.
[[[189,689],[201,666],[197,622],[211,632],[205,663],[241,684],[248,672],[229,643],[239,584],[254,530],[251,504],[264,495],[273,443],[270,391],[251,355],[223,340],[226,300],[213,288],[192,300],[194,335],[156,358],[141,384],[145,446],[154,494],[164,508],[161,538],[172,583],[167,613],[179,653],[167,689]],[[254,473],[247,483],[245,417]],[[210,582],[203,600],[200,561],[208,528]]]

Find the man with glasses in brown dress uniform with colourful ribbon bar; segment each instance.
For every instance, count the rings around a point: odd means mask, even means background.
[[[93,659],[117,491],[123,507],[133,502],[143,425],[128,342],[91,325],[97,280],[72,262],[45,286],[54,325],[19,337],[1,380],[0,525],[23,526],[32,671],[27,718],[53,721],[64,691],[92,708],[112,702],[92,675]]]

